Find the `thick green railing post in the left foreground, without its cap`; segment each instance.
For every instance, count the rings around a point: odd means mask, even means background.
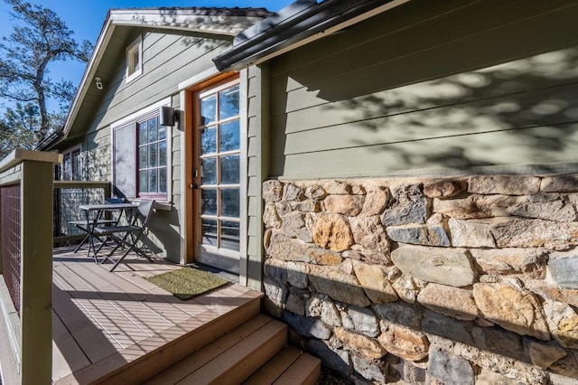
[[[24,161],[22,170],[22,383],[50,383],[52,164]]]

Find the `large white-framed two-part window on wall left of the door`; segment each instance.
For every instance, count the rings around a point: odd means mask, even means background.
[[[115,193],[166,201],[170,127],[159,124],[158,108],[114,125],[112,136]]]

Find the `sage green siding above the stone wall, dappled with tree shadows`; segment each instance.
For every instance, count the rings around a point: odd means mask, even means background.
[[[578,5],[409,2],[270,61],[270,176],[578,160]]]

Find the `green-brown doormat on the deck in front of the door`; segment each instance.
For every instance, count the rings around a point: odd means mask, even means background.
[[[181,299],[199,296],[228,284],[228,280],[196,268],[179,268],[178,270],[144,279]]]

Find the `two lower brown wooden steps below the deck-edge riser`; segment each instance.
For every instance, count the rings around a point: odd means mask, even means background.
[[[256,315],[145,384],[314,384],[321,361],[287,345],[287,325]]]

